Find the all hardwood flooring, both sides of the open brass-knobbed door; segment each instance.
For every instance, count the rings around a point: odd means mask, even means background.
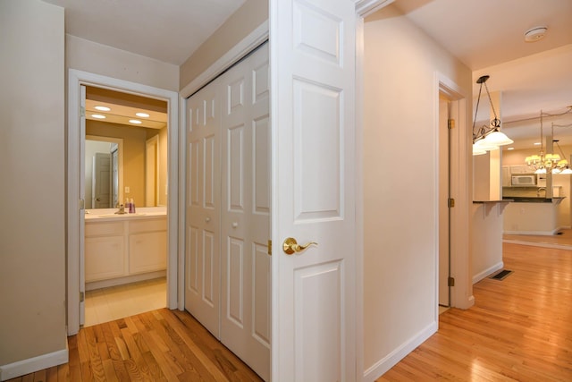
[[[439,331],[378,382],[572,381],[572,251],[503,247],[513,273],[475,284],[475,306],[442,313]],[[69,363],[13,380],[260,380],[178,310],[83,328],[69,344]]]

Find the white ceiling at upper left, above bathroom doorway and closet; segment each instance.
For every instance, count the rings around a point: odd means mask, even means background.
[[[68,34],[179,66],[246,0],[44,1]]]

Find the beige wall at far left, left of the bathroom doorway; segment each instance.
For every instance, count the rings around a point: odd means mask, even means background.
[[[0,372],[65,352],[63,8],[0,1]]]

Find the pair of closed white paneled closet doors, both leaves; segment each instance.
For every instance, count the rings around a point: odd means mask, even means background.
[[[268,46],[188,100],[185,308],[270,379]]]

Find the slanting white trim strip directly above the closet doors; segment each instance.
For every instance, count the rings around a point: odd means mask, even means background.
[[[264,21],[257,29],[250,32],[246,38],[243,38],[237,45],[232,47],[231,50],[216,60],[214,64],[211,64],[205,72],[202,72],[197,78],[190,81],[187,86],[181,89],[181,98],[189,98],[198,89],[205,86],[208,81],[212,81],[219,74],[238,62],[242,57],[248,55],[255,47],[265,42],[269,35],[268,26],[268,21]]]

